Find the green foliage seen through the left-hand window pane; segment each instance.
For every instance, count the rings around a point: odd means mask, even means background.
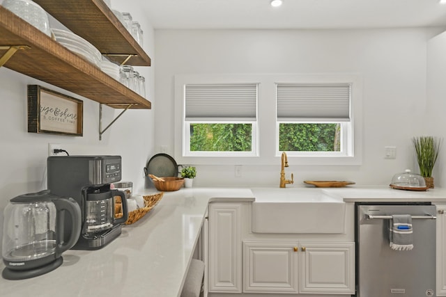
[[[191,152],[250,152],[251,124],[190,124]]]

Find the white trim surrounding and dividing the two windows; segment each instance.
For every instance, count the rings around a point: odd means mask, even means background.
[[[185,156],[184,86],[186,83],[258,83],[255,156]],[[277,83],[350,83],[351,154],[349,156],[291,156],[293,166],[357,166],[362,164],[362,75],[325,74],[177,74],[174,77],[174,157],[178,163],[197,165],[277,165],[278,151]],[[260,137],[260,135],[262,137]],[[277,147],[277,148],[276,148]],[[287,152],[288,154],[288,152]]]

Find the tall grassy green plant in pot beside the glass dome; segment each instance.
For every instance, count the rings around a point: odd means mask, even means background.
[[[414,137],[413,146],[420,166],[420,175],[424,177],[426,186],[433,188],[432,170],[440,152],[441,139],[433,136]]]

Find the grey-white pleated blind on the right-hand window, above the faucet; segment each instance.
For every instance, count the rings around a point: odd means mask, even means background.
[[[351,86],[337,84],[277,84],[277,120],[350,120]]]

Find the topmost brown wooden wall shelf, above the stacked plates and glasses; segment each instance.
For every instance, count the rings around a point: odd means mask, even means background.
[[[127,65],[150,66],[151,58],[102,0],[34,0],[73,33],[102,54]]]

